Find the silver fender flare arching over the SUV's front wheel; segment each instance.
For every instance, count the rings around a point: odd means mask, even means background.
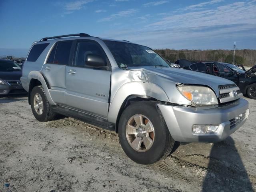
[[[116,123],[122,104],[131,95],[169,102],[166,92],[156,84],[150,82],[128,82],[122,85],[112,98],[108,111],[109,122]]]

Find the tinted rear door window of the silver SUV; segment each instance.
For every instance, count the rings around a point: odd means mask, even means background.
[[[69,61],[72,41],[58,42],[54,57],[54,64],[67,65]]]

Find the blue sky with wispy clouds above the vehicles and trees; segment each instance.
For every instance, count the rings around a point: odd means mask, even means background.
[[[0,51],[80,32],[151,48],[256,49],[256,0],[0,0],[0,27]]]

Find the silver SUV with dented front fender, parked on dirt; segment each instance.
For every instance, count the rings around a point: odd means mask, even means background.
[[[171,68],[146,46],[88,34],[34,42],[21,82],[37,120],[63,114],[116,131],[140,164],[168,156],[174,141],[224,140],[249,115],[232,81]]]

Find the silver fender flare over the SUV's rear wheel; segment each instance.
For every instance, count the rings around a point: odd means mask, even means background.
[[[28,74],[28,79],[29,79],[29,85],[30,85],[30,81],[31,79],[37,79],[38,81],[40,81],[40,83],[42,84],[42,87],[44,88],[44,92],[46,95],[47,100],[49,101],[49,103],[51,105],[57,105],[53,100],[52,97],[50,95],[46,80],[44,79],[44,76],[39,72],[39,71],[31,71]]]

